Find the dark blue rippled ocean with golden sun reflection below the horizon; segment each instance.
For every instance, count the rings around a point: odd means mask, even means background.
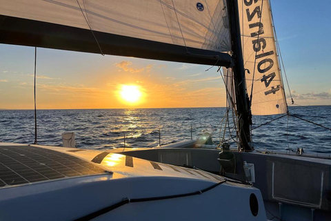
[[[155,147],[182,140],[197,139],[207,132],[214,144],[220,140],[236,147],[232,114],[230,129],[223,130],[225,108],[150,108],[37,110],[38,144],[61,146],[63,132],[74,132],[78,148]],[[290,106],[292,115],[331,128],[331,106]],[[276,119],[253,116],[255,128]],[[222,122],[223,119],[223,122]],[[223,126],[221,126],[223,125]],[[191,129],[192,127],[192,129]],[[222,128],[222,129],[221,129]],[[252,130],[255,148],[331,153],[331,131],[295,117],[282,117]],[[33,110],[0,111],[0,142],[32,144],[34,142]]]

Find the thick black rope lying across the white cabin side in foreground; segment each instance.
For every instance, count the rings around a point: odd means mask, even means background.
[[[155,201],[155,200],[168,200],[173,198],[183,198],[191,195],[201,195],[202,193],[205,193],[207,191],[210,191],[211,189],[214,189],[215,187],[219,186],[220,184],[223,184],[224,182],[227,182],[227,179],[222,180],[221,182],[218,182],[217,184],[213,184],[212,186],[209,186],[205,189],[202,189],[201,191],[195,191],[191,193],[183,193],[178,195],[166,195],[166,196],[160,196],[155,198],[138,198],[138,199],[130,199],[130,198],[124,198],[121,200],[121,202],[118,202],[116,204],[112,204],[111,206],[108,206],[106,208],[100,209],[99,211],[95,211],[94,213],[90,213],[88,215],[85,215],[81,218],[78,218],[76,221],[82,221],[82,220],[92,220],[94,218],[99,217],[100,215],[103,215],[105,213],[108,213],[114,209],[119,208],[120,206],[123,206],[128,203],[132,202],[148,202],[148,201]]]

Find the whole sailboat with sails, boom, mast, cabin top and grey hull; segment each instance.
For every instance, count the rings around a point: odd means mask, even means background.
[[[239,140],[223,155],[195,141],[121,154],[0,143],[0,220],[331,220],[330,160],[250,140],[251,114],[288,113],[268,0],[3,0],[0,31],[1,44],[226,68]]]

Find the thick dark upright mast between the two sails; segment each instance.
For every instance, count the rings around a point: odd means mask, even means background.
[[[226,2],[230,21],[232,59],[234,60],[232,69],[237,101],[239,148],[241,151],[252,151],[253,148],[249,144],[251,142],[250,125],[252,124],[252,114],[246,90],[245,68],[243,67],[238,2],[237,0],[226,0]]]

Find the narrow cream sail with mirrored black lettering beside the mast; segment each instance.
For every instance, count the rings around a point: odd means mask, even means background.
[[[287,113],[268,0],[238,0],[241,44],[253,115]],[[253,78],[254,76],[254,78]]]

